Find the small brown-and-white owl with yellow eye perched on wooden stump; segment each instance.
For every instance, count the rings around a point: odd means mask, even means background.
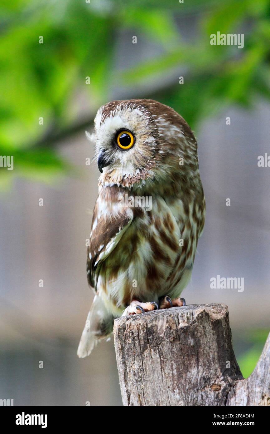
[[[79,357],[110,335],[115,318],[185,304],[205,219],[197,142],[173,109],[109,102],[91,140],[101,172],[86,266],[95,296]]]

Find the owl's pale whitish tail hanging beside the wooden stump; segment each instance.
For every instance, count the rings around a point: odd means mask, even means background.
[[[94,301],[85,321],[77,355],[80,358],[89,355],[99,339],[105,338],[113,330],[114,317],[105,308],[101,298],[94,296]]]

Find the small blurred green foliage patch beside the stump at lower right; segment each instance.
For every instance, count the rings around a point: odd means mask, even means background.
[[[267,340],[268,333],[269,331],[267,330],[250,331],[248,341],[251,343],[251,347],[237,359],[244,378],[249,377],[253,372]]]

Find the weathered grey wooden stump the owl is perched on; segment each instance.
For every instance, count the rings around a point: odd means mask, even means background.
[[[114,342],[124,405],[263,405],[270,396],[270,336],[244,379],[224,304],[118,318]]]

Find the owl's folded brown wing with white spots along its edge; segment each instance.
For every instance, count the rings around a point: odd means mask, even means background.
[[[87,249],[87,279],[96,290],[98,271],[101,263],[110,255],[119,243],[133,220],[133,211],[124,208],[117,217],[97,217],[97,203],[94,207],[90,245]]]

